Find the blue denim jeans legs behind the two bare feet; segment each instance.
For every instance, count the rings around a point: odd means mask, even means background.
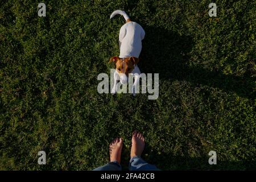
[[[105,164],[104,166],[97,167],[93,169],[93,171],[121,171],[122,167],[117,162],[110,162],[108,164]],[[129,170],[130,171],[159,171],[158,168],[156,168],[152,164],[148,164],[145,162],[140,156],[134,156],[130,160],[129,164]]]

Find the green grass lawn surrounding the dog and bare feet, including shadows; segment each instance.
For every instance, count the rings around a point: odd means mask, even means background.
[[[90,170],[108,162],[114,137],[127,169],[135,129],[163,170],[256,169],[255,2],[216,0],[210,17],[211,2],[1,1],[0,169]],[[146,32],[138,65],[159,73],[157,100],[97,92],[119,55],[118,9]]]

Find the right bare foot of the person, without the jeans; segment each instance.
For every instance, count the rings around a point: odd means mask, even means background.
[[[145,147],[145,139],[138,131],[133,132],[133,138],[131,138],[131,158],[134,156],[141,156]]]

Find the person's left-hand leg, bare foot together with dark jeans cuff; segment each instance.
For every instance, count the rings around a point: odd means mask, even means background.
[[[109,145],[110,162],[104,166],[93,169],[93,171],[121,171],[122,146],[122,138],[115,138]]]

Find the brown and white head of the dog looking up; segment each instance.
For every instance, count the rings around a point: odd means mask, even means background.
[[[135,65],[138,64],[139,59],[137,57],[119,58],[118,56],[113,56],[110,58],[109,62],[115,63],[115,69],[120,76],[120,81],[124,84],[127,82],[129,73],[131,73]]]

